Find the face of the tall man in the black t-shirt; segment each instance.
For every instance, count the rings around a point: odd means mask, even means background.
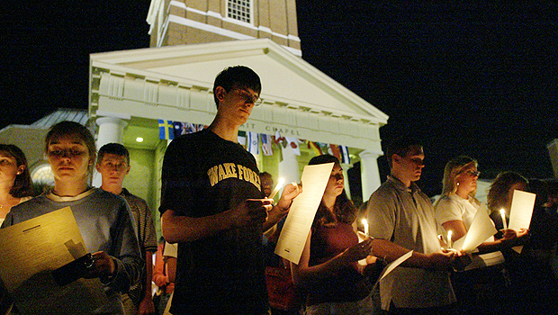
[[[221,86],[217,87],[217,97],[220,100],[218,112],[222,117],[235,121],[235,124],[245,123],[257,103],[259,94],[251,88],[232,88],[229,93]]]

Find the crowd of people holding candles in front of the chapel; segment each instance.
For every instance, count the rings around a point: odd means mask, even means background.
[[[295,264],[275,255],[286,215],[304,183],[285,185],[275,202],[269,198],[272,176],[260,173],[255,157],[238,144],[238,129],[261,102],[261,88],[252,69],[224,69],[213,86],[217,113],[211,125],[166,148],[159,207],[164,238],[158,242],[147,202],[122,186],[130,172],[128,150],[110,143],[97,152],[91,132],[72,121],[52,126],[46,136],[54,184],[38,196],[32,196],[22,150],[0,144],[2,228],[71,207],[92,257],[81,276],[100,279],[107,297],[90,310],[94,314],[553,310],[558,298],[556,181],[501,173],[483,207],[475,198],[479,163],[459,156],[447,162],[443,191],[433,204],[416,183],[426,153],[410,137],[386,146],[390,175],[360,208],[347,197],[338,158],[312,157],[311,166],[333,166],[302,256]],[[102,177],[98,188],[91,185],[94,169]],[[506,228],[516,190],[536,193],[529,229]],[[472,254],[449,247],[464,238],[477,211],[487,211],[498,232]],[[386,266],[404,255],[410,256],[381,278]],[[277,269],[283,272],[273,273]],[[283,277],[284,291],[270,291],[273,276]],[[0,284],[0,314],[28,313],[18,302],[32,296],[11,296]]]

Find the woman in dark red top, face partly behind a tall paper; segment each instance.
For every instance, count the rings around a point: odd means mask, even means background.
[[[344,190],[337,157],[313,157],[309,165],[335,163],[298,265],[291,263],[293,282],[306,293],[305,314],[370,314],[372,296],[363,267],[372,239],[358,242],[356,207]],[[304,183],[302,183],[303,185]]]

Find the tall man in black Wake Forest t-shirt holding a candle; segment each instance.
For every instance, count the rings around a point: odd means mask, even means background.
[[[209,128],[166,148],[159,211],[163,236],[178,243],[172,314],[269,311],[262,235],[300,190],[287,184],[272,206],[255,158],[238,144],[260,91],[249,67],[225,68],[213,85],[217,114]]]

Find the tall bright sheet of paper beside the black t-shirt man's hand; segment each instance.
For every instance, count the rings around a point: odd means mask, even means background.
[[[298,264],[301,259],[302,249],[326,190],[333,165],[328,163],[304,166],[301,178],[302,193],[293,200],[275,247],[275,254],[294,264]]]

